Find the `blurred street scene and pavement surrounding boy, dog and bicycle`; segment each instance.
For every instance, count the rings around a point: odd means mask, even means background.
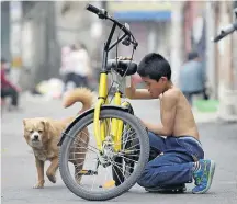
[[[87,11],[88,2],[129,24],[139,43],[135,61],[139,63],[150,52],[169,60],[173,83],[192,105],[205,158],[217,163],[211,192],[199,200],[189,193],[193,185],[190,183],[184,196],[150,194],[135,186],[115,202],[236,204],[237,123],[229,122],[237,122],[237,32],[218,43],[211,38],[221,27],[236,21],[233,10],[237,1],[158,0],[1,0],[2,203],[83,202],[68,191],[59,174],[57,184],[46,179],[45,190],[32,190],[36,169],[32,149],[23,137],[22,121],[76,115],[81,104],[64,109],[64,92],[75,86],[97,91],[103,42],[112,24]],[[119,31],[114,38],[117,35]],[[119,56],[131,54],[131,48],[119,46]],[[115,52],[109,57],[114,58]],[[138,76],[135,79],[143,87]],[[150,123],[160,121],[157,100],[129,102],[139,118]]]

